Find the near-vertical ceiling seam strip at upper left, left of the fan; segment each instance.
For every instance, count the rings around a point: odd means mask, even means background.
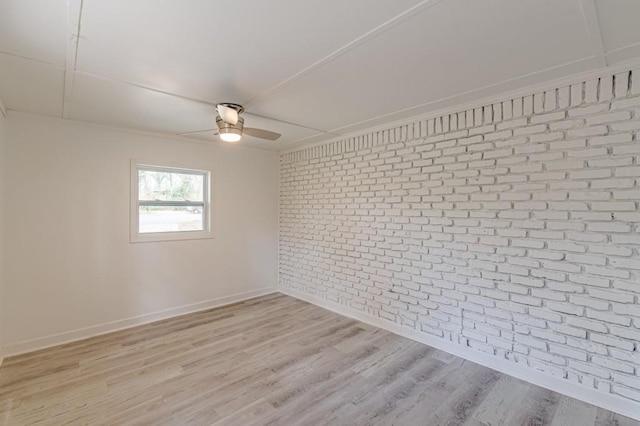
[[[62,95],[62,118],[71,115],[71,100],[76,63],[78,60],[78,46],[80,44],[80,23],[84,0],[67,1],[67,51],[64,72],[64,93]]]

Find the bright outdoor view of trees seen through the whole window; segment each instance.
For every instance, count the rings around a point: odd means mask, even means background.
[[[206,173],[138,168],[138,232],[205,229]]]

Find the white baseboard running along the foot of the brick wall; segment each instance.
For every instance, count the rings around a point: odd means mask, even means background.
[[[596,389],[590,389],[588,387],[581,386],[579,384],[572,383],[567,380],[551,376],[549,374],[545,374],[521,364],[505,362],[500,360],[499,358],[485,354],[483,352],[465,348],[464,346],[447,342],[444,339],[430,336],[416,330],[411,330],[387,321],[383,318],[376,318],[362,312],[357,312],[343,305],[339,305],[337,303],[321,299],[297,290],[280,288],[279,291],[280,293],[286,294],[287,296],[304,300],[305,302],[312,303],[314,305],[336,312],[340,315],[356,319],[374,327],[390,331],[391,333],[397,334],[399,336],[415,340],[416,342],[423,343],[436,349],[440,349],[450,354],[459,356],[460,358],[475,362],[477,364],[483,365],[509,376],[516,377],[534,385],[541,386],[543,388],[570,396],[575,399],[579,399],[581,401],[622,414],[623,416],[627,416],[635,420],[640,420],[640,404],[630,400],[626,400],[622,397],[604,393]]]

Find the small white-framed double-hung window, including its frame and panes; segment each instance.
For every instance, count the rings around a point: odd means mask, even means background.
[[[131,162],[131,242],[212,238],[211,172]]]

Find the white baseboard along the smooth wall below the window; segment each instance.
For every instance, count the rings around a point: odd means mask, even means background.
[[[104,324],[93,325],[90,327],[80,328],[77,330],[65,331],[62,333],[52,334],[49,336],[38,337],[35,339],[23,340],[15,343],[7,343],[0,352],[0,365],[3,358],[20,355],[27,352],[33,352],[40,349],[58,346],[65,343],[82,340],[89,337],[99,336],[101,334],[112,333],[114,331],[124,330],[126,328],[138,325],[148,324],[154,321],[160,321],[167,318],[177,317],[180,315],[190,314],[193,312],[204,311],[231,303],[241,302],[243,300],[253,299],[254,297],[264,296],[276,293],[278,290],[274,288],[261,288],[257,290],[236,293],[230,296],[218,297],[216,299],[206,300],[204,302],[193,303],[191,305],[170,308],[164,311],[153,312],[132,318],[126,318],[117,321],[111,321]]]

